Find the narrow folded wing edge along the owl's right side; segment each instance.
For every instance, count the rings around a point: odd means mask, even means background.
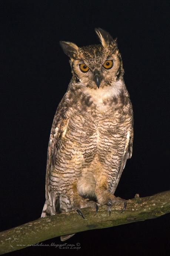
[[[113,188],[110,191],[112,194],[114,194],[114,192],[116,190],[116,187],[119,183],[121,174],[126,165],[127,159],[131,158],[132,149],[133,149],[133,126],[131,127],[131,129],[129,131],[127,131],[127,134],[126,134],[126,142],[125,142],[125,147],[124,147],[124,152],[123,152],[120,169],[119,169],[118,175],[116,177],[116,180],[114,182]]]

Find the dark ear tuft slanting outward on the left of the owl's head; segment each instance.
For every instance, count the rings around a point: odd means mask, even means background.
[[[75,43],[60,41],[60,45],[67,56],[71,59],[76,58],[79,47]]]

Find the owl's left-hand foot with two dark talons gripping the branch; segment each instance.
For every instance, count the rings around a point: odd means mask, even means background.
[[[81,212],[81,208],[86,208],[86,207],[90,207],[92,209],[96,209],[94,216],[96,215],[97,211],[98,211],[98,205],[97,203],[93,202],[93,201],[86,201],[86,200],[82,200],[79,203],[74,202],[74,206],[73,206],[73,210],[77,211],[78,214],[80,214],[80,216],[84,219],[83,213]]]

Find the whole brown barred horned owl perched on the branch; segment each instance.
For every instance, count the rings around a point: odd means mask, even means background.
[[[126,207],[114,191],[132,154],[133,110],[117,42],[103,29],[96,33],[100,45],[60,42],[73,77],[51,128],[41,217],[75,210],[84,218],[84,207]]]

